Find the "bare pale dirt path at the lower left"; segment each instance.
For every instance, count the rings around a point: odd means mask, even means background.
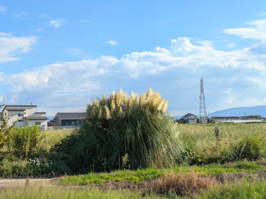
[[[45,185],[48,184],[52,178],[50,179],[29,179],[30,185]],[[26,179],[0,179],[0,188],[7,188],[7,187],[22,187],[25,185]]]

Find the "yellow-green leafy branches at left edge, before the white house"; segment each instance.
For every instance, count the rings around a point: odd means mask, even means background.
[[[0,109],[5,106],[5,104],[0,105]],[[1,125],[0,128],[0,149],[3,147],[3,145],[6,143],[7,136],[12,132],[13,127],[16,125],[17,120],[12,122],[12,125],[7,126],[8,121],[10,120],[10,116],[3,116],[0,115],[0,121],[3,121],[3,124]]]

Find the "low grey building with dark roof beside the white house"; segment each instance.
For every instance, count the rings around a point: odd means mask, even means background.
[[[80,126],[81,119],[85,118],[87,113],[56,113],[50,121],[50,126]]]

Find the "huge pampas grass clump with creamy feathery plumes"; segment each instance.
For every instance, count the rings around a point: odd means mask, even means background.
[[[126,153],[131,169],[172,166],[182,158],[182,144],[167,103],[152,89],[140,98],[134,92],[127,97],[127,92],[113,91],[110,98],[94,99],[82,127],[52,149],[76,169],[120,169]],[[92,164],[97,159],[104,160],[100,168]]]

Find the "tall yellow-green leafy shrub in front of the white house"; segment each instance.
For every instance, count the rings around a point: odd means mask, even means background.
[[[42,146],[42,136],[40,127],[25,126],[13,129],[7,137],[7,147],[9,152],[19,158],[35,157]]]

